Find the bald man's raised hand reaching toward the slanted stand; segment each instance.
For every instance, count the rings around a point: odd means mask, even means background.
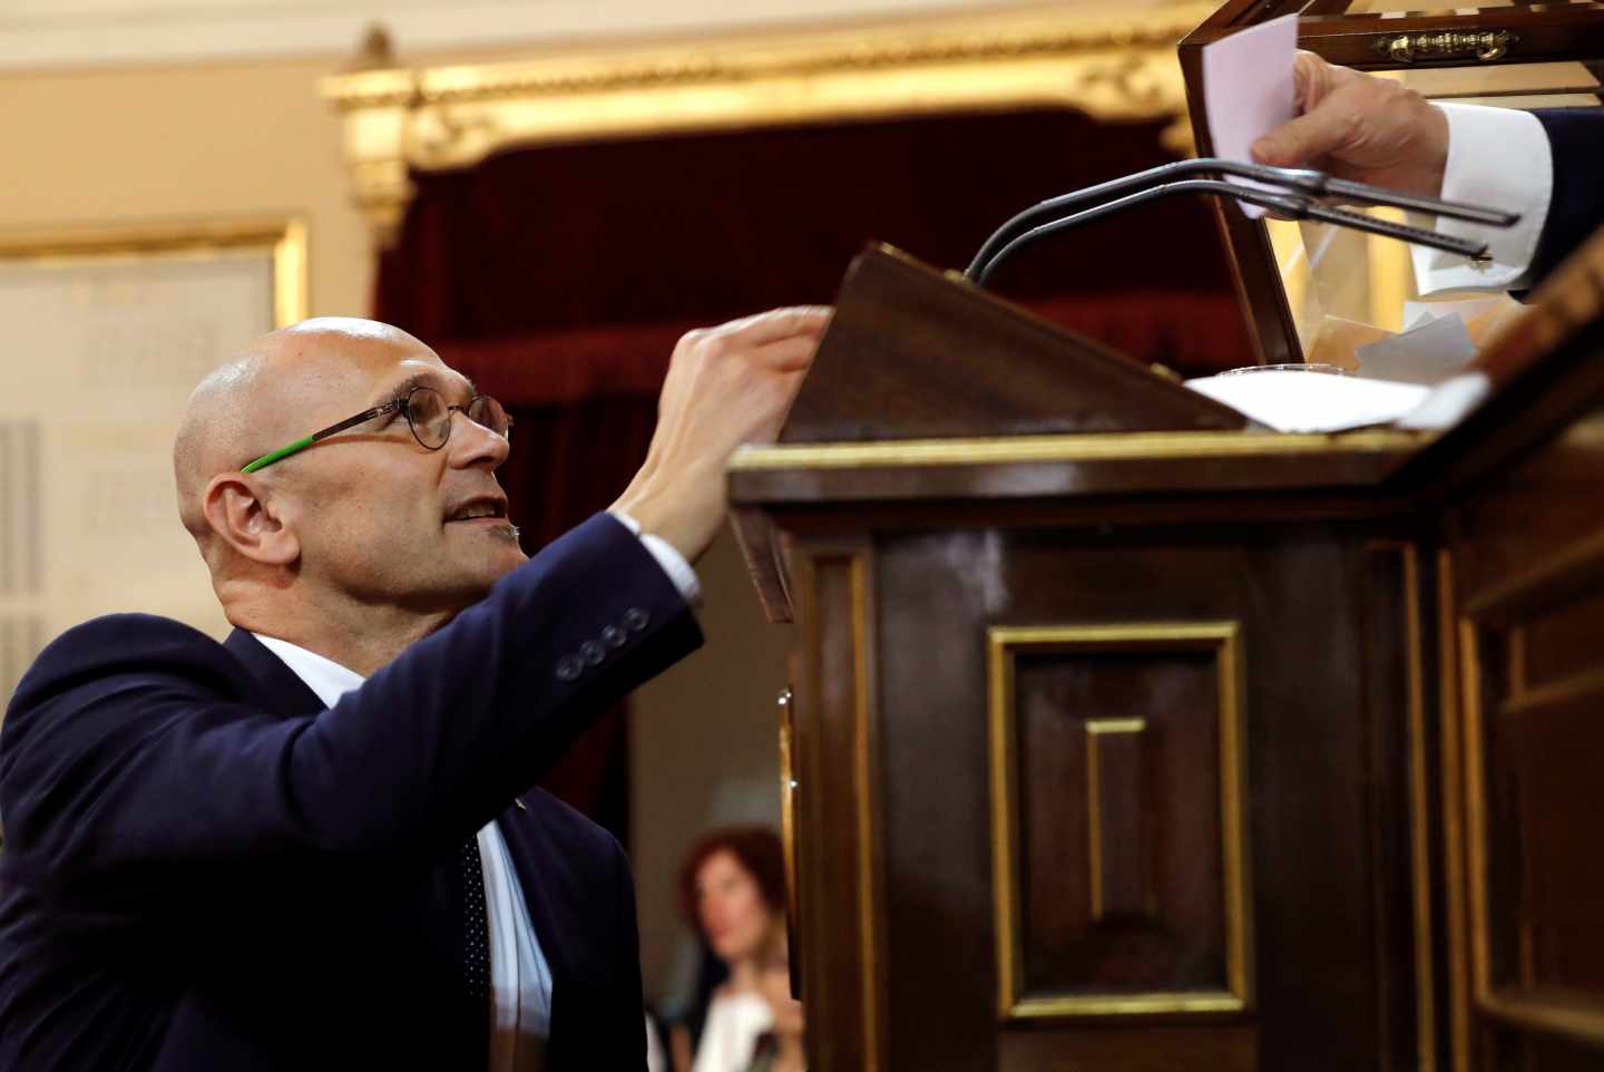
[[[730,454],[780,435],[829,315],[783,308],[680,339],[646,464],[613,509],[695,562],[723,523]]]

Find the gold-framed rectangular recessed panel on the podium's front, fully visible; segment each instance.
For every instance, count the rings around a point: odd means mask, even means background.
[[[1235,626],[990,635],[1003,1016],[1245,1008]]]

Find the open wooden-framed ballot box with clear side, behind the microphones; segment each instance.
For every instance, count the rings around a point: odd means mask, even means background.
[[[1181,42],[1198,156],[1214,151],[1203,112],[1203,50],[1294,13],[1299,48],[1395,79],[1432,101],[1599,106],[1604,3],[1598,0],[1227,0]],[[1351,334],[1355,323],[1376,332],[1405,327],[1405,302],[1415,297],[1405,246],[1323,225],[1251,220],[1227,204],[1214,205],[1214,213],[1258,359],[1299,361],[1323,350],[1323,337]],[[1379,215],[1404,221],[1399,212]]]

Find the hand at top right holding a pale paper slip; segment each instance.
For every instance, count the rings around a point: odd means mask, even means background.
[[[1442,194],[1448,120],[1426,98],[1389,79],[1333,67],[1309,51],[1298,53],[1293,80],[1299,114],[1253,143],[1254,160]]]

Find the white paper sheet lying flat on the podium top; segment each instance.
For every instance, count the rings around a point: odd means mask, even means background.
[[[1346,432],[1391,424],[1431,393],[1415,384],[1275,369],[1208,376],[1185,385],[1275,432]]]

